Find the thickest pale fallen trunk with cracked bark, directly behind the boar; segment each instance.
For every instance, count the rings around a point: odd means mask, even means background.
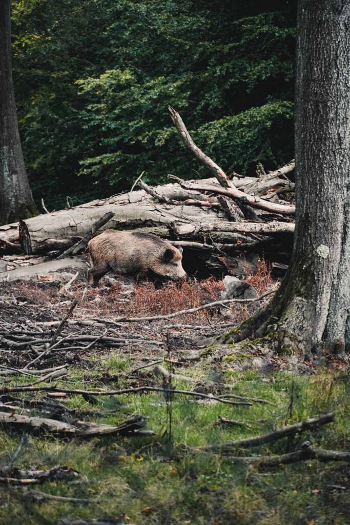
[[[252,181],[252,177],[246,177],[246,180],[243,179],[243,181],[247,185]],[[244,187],[241,179],[234,178],[234,182],[237,187]],[[232,211],[228,209],[228,206],[218,207],[219,202],[215,196],[208,196],[198,190],[201,185],[206,191],[220,193],[224,188],[220,188],[213,179],[189,181],[186,182],[186,185],[187,190],[178,183],[153,187],[153,193],[159,196],[160,201],[163,199],[163,202],[157,201],[145,190],[137,190],[58,212],[38,215],[21,222],[20,225],[14,223],[0,226],[0,246],[3,246],[3,250],[7,252],[10,249],[14,250],[14,247],[22,247],[27,255],[46,254],[52,250],[62,252],[81,241],[91,229],[91,225],[99,223],[108,213],[112,213],[113,217],[100,227],[97,233],[108,228],[151,227],[156,230],[161,228],[163,235],[171,237],[171,225],[174,222],[216,224],[219,230],[222,222],[227,222],[232,218]],[[169,202],[175,204],[169,204]],[[203,202],[210,205],[198,207],[188,205],[190,202]],[[278,210],[281,208],[284,211],[287,208],[287,206],[274,203],[268,204],[277,206]],[[256,212],[262,218],[266,214],[271,215],[271,209],[267,212],[257,208]],[[267,216],[265,220],[269,218]]]

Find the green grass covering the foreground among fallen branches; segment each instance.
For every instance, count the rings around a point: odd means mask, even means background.
[[[134,367],[128,356],[111,354],[105,358],[103,367],[111,375]],[[95,359],[99,361],[98,356]],[[208,372],[205,364],[199,363],[182,373],[203,380]],[[72,370],[72,381],[68,385],[62,381],[61,385],[87,389],[101,387],[98,381],[101,373],[91,370],[86,373],[90,377],[87,384],[82,383],[84,373],[81,370]],[[96,382],[91,379],[95,375]],[[181,449],[183,443],[200,446],[258,435],[276,426],[335,409],[335,423],[312,433],[248,449],[245,455],[282,454],[295,450],[306,439],[317,447],[347,450],[350,387],[346,374],[319,370],[314,376],[294,377],[291,416],[288,414],[291,375],[277,373],[263,378],[257,372],[228,370],[221,379],[234,385],[234,393],[263,398],[271,404],[236,407],[198,403],[187,396],[174,396],[173,435],[169,443],[165,433],[167,414],[163,394],[104,397],[98,398],[98,404],[92,408],[115,409],[115,415],[96,418],[96,421],[115,423],[131,413],[139,413],[149,417],[147,426],[156,436],[59,440],[28,435],[16,466],[48,468],[60,464],[80,472],[75,481],[45,482],[34,488],[52,495],[89,498],[90,504],[54,500],[38,503],[26,489],[1,486],[0,524],[51,524],[64,517],[114,518],[135,525],[350,523],[350,466],[312,460],[267,470],[234,464],[229,456],[185,454]],[[28,379],[12,381],[13,384],[25,384]],[[122,386],[123,380],[107,385],[108,388]],[[180,381],[176,386],[190,388],[188,383]],[[81,396],[69,397],[67,404],[91,408]],[[214,425],[218,415],[240,419],[251,427]],[[8,429],[0,431],[2,465],[8,463],[19,439],[19,434]]]

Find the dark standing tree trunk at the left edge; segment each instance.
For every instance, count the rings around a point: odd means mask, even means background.
[[[0,224],[35,214],[20,144],[12,78],[10,2],[0,2]]]

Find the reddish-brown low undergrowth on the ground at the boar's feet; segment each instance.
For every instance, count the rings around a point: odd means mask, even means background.
[[[256,274],[248,275],[245,280],[256,288],[259,294],[268,290],[272,285],[272,279],[271,270],[266,261],[262,259]],[[18,303],[25,302],[33,307],[37,305],[43,308],[54,308],[57,312],[61,308],[67,308],[68,299],[77,297],[79,305],[76,313],[79,316],[83,314],[102,318],[166,315],[218,301],[224,290],[222,280],[215,277],[201,281],[190,279],[184,283],[165,282],[160,288],[147,280],[137,281],[135,286],[125,286],[122,280],[117,280],[111,287],[102,286],[96,289],[87,288],[86,281],[78,278],[69,293],[59,293],[63,284],[64,282],[57,287],[57,285],[45,282],[40,285],[24,282],[13,283],[10,286],[10,295]],[[234,306],[229,317],[231,319],[233,317],[232,320],[239,323],[247,319],[250,314],[247,306]],[[182,320],[184,320],[183,317]],[[222,312],[219,313],[217,309],[200,310],[190,314],[189,322],[205,323],[206,321],[213,322],[213,320],[222,322]]]

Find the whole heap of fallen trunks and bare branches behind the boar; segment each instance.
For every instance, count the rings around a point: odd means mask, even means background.
[[[267,248],[272,254],[287,254],[288,259],[294,206],[280,201],[277,192],[292,187],[286,174],[294,161],[268,174],[259,165],[258,177],[236,174],[230,178],[196,146],[172,108],[171,115],[186,147],[215,178],[182,181],[169,175],[176,182],[150,187],[140,175],[134,186],[139,184],[141,190],[39,215],[19,225],[0,226],[0,252],[31,255],[52,251],[56,257],[59,253],[65,257],[81,251],[94,233],[137,228],[183,245],[184,259],[200,261],[197,269],[203,261],[209,261],[210,269],[243,268],[244,264],[238,264],[242,253],[261,255]],[[197,269],[193,266],[193,271]]]

